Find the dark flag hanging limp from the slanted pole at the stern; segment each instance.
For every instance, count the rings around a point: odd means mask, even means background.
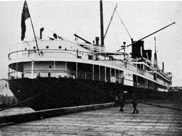
[[[23,41],[25,38],[25,31],[26,31],[26,25],[25,25],[25,20],[30,17],[30,13],[28,10],[28,5],[25,0],[24,5],[23,5],[23,11],[21,14],[21,40]]]

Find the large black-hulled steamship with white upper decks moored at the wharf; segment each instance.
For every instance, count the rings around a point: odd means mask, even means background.
[[[26,2],[26,1],[25,1]],[[24,8],[28,8],[24,5]],[[22,41],[8,54],[8,82],[20,104],[34,110],[114,102],[123,91],[143,95],[165,92],[172,85],[172,73],[157,66],[157,54],[144,49],[144,39],[125,45],[116,52],[105,51],[103,5],[100,1],[101,36],[90,43],[73,42],[57,34]],[[24,10],[25,11],[25,10]],[[24,12],[23,11],[23,12]],[[29,18],[29,13],[24,19]],[[38,43],[38,44],[37,44]],[[132,46],[131,53],[125,48]]]

